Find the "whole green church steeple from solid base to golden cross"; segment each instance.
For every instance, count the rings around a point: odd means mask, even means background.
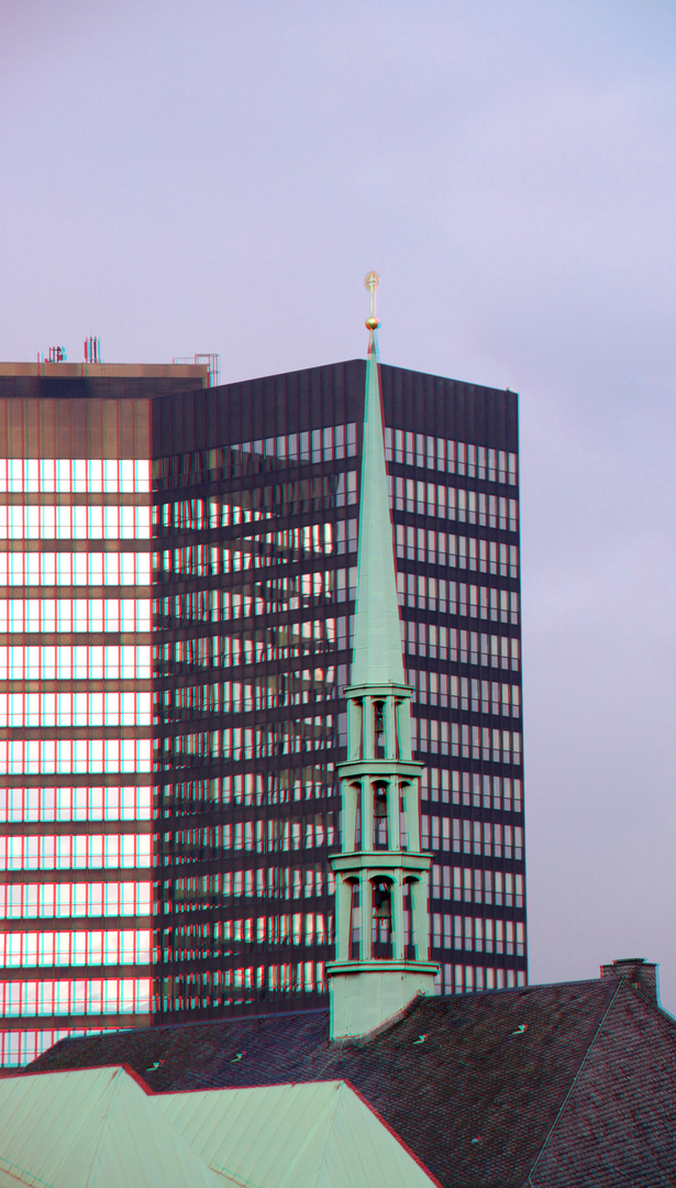
[[[421,845],[421,772],[411,756],[411,695],[402,655],[383,432],[374,272],[364,409],[359,560],[347,754],[339,765],[342,846],[336,960],[327,966],[330,1037],[365,1036],[417,994],[434,993],[429,870]]]

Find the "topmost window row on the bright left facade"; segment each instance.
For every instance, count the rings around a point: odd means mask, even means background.
[[[150,489],[151,463],[147,459],[0,459],[0,491]]]

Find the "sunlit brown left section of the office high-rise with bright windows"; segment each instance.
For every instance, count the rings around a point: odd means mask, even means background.
[[[152,1018],[153,397],[0,365],[0,1061]]]

